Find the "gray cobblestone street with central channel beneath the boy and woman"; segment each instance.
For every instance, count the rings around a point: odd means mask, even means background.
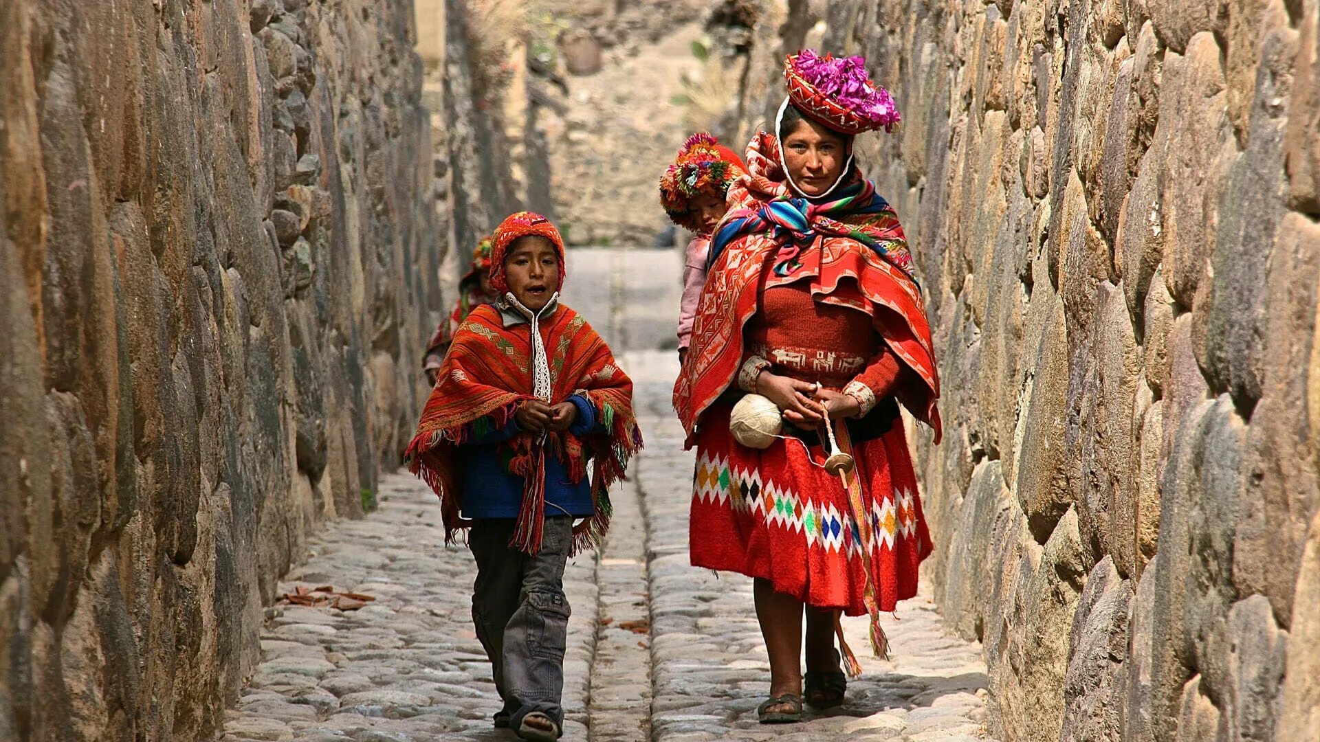
[[[983,738],[979,651],[941,631],[924,593],[900,606],[900,621],[886,617],[894,661],[865,652],[865,618],[846,619],[865,675],[842,709],[756,724],[770,671],[751,584],[688,565],[692,455],[669,413],[672,356],[622,359],[638,380],[647,450],[614,492],[606,548],[573,560],[565,577],[564,739]],[[281,591],[334,585],[376,601],[347,613],[273,609],[263,664],[230,712],[226,741],[513,739],[491,727],[499,702],[469,614],[471,555],[444,545],[425,485],[387,477],[376,512],[331,524],[312,551]]]

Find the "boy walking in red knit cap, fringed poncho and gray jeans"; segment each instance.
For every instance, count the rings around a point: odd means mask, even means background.
[[[499,298],[454,334],[407,455],[440,495],[446,543],[470,528],[473,622],[504,701],[495,726],[548,742],[564,726],[564,565],[599,543],[609,486],[642,436],[632,382],[586,321],[558,304],[558,230],[521,211],[491,242]]]

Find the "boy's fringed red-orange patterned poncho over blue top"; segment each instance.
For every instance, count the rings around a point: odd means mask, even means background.
[[[598,545],[605,535],[611,512],[609,487],[624,477],[628,458],[642,448],[642,433],[632,413],[632,382],[586,320],[561,305],[541,321],[540,327],[553,378],[548,401],[558,404],[572,395],[582,395],[595,407],[597,420],[606,430],[585,438],[566,430],[550,433],[544,444],[532,433],[519,433],[499,444],[508,449],[510,473],[527,482],[519,535],[511,545],[529,553],[540,549],[545,518],[544,455],[558,457],[573,483],[586,477],[586,462],[594,459],[591,499],[595,515],[573,529],[573,552],[577,553]],[[533,399],[528,330],[529,325],[506,329],[494,306],[474,309],[454,334],[417,434],[405,453],[408,469],[440,495],[446,543],[454,540],[458,529],[471,525],[459,515],[459,445],[484,430],[503,428],[519,403]],[[533,495],[537,489],[541,498]]]

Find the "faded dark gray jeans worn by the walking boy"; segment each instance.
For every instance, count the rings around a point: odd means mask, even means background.
[[[573,519],[546,516],[536,556],[508,545],[515,525],[513,519],[478,519],[473,524],[467,539],[477,557],[473,623],[513,729],[531,712],[562,726],[560,698],[569,634],[564,565],[573,548]]]

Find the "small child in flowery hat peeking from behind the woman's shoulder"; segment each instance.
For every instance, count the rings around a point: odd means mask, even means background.
[[[701,132],[688,137],[673,165],[660,178],[660,205],[675,224],[693,232],[682,267],[682,301],[678,310],[678,359],[686,359],[697,300],[706,283],[710,234],[729,210],[729,186],[746,172],[738,154]]]

